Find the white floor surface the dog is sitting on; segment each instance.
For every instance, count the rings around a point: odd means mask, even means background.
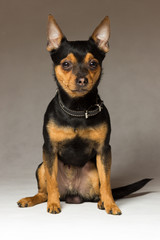
[[[117,204],[121,216],[107,215],[96,203],[61,203],[62,212],[46,212],[47,203],[18,208],[16,202],[36,192],[35,182],[1,182],[1,239],[159,239],[160,184],[152,180],[141,191]],[[51,238],[50,238],[51,237]]]

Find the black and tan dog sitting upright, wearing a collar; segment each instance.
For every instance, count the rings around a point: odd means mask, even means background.
[[[150,180],[111,190],[110,118],[97,91],[109,35],[105,17],[88,41],[68,41],[49,15],[47,50],[58,91],[44,116],[43,163],[36,171],[38,194],[21,199],[19,207],[47,201],[47,211],[59,213],[60,200],[95,201],[99,209],[120,215],[114,199]]]

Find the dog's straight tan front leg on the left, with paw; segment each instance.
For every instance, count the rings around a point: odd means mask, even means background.
[[[47,211],[49,213],[60,213],[60,195],[58,191],[57,172],[58,172],[58,157],[56,153],[43,151],[43,162],[45,166],[45,174],[47,179]]]

